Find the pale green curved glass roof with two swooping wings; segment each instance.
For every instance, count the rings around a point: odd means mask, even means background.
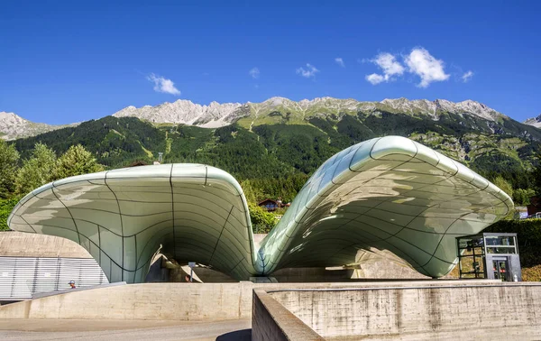
[[[441,277],[456,263],[455,237],[505,217],[507,194],[461,163],[387,136],[327,160],[255,249],[246,199],[225,171],[164,164],[51,182],[8,218],[17,231],[83,245],[109,281],[144,281],[152,255],[212,266],[245,280],[286,267],[353,263],[356,253],[394,253]]]

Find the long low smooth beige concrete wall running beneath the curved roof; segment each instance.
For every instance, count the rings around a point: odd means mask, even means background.
[[[453,281],[455,285],[464,282]],[[477,281],[491,283],[491,281]],[[144,283],[69,292],[0,307],[0,318],[221,320],[252,317],[252,290],[439,285],[442,281],[361,283]]]

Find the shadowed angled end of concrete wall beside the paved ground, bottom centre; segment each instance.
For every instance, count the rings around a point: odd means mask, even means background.
[[[325,340],[274,300],[265,290],[253,290],[252,340]]]

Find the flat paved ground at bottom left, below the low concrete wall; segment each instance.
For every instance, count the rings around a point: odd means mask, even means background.
[[[0,319],[0,340],[251,340],[252,321]]]

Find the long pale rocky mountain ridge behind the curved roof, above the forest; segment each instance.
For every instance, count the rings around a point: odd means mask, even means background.
[[[254,116],[270,115],[275,109],[285,110],[302,119],[316,114],[340,114],[341,111],[356,113],[356,111],[391,110],[399,113],[421,114],[428,113],[433,119],[438,119],[440,112],[454,114],[477,115],[488,121],[497,121],[507,117],[500,112],[480,102],[470,99],[462,102],[451,102],[445,99],[429,101],[426,99],[409,100],[407,98],[383,99],[381,102],[358,101],[353,98],[316,97],[293,101],[286,97],[271,97],[260,103],[217,103],[208,106],[194,104],[186,99],[163,103],[158,106],[127,106],[113,116],[133,116],[158,124],[190,124],[206,128],[215,128],[232,124],[235,120]],[[276,110],[278,111],[278,110]]]

